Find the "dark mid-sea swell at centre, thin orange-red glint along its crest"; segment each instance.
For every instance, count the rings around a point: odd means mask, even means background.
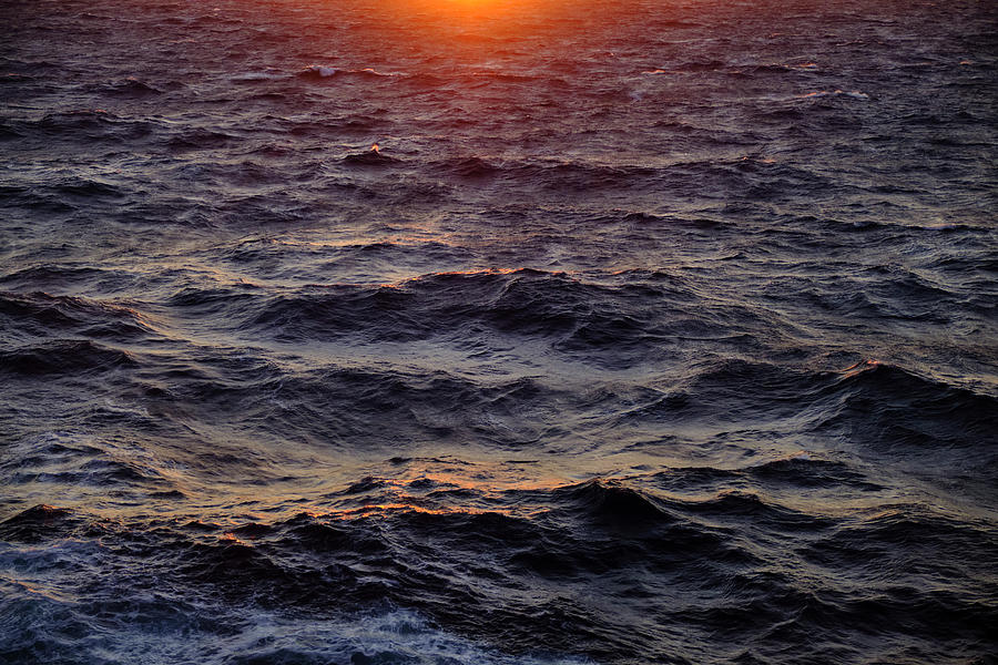
[[[621,307],[639,293],[587,284],[568,275],[440,273],[398,286],[310,287],[261,303],[244,330],[279,340],[353,337],[405,341],[451,336],[472,325],[501,334],[552,338],[566,350],[654,342],[635,314]],[[635,303],[640,305],[639,303]]]

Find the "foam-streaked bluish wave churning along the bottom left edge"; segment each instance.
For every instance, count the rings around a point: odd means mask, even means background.
[[[72,554],[72,553],[70,553]],[[304,665],[350,663],[473,662],[481,665],[585,665],[587,658],[536,653],[503,653],[488,643],[442,630],[411,610],[378,607],[342,616],[296,617],[254,606],[176,603],[161,593],[116,597],[77,606],[48,595],[32,595],[17,583],[3,584],[0,628],[10,637],[8,653],[58,665],[111,665],[119,657],[150,663],[206,665],[294,662]],[[131,621],[104,620],[94,627],[88,612],[128,612]],[[67,642],[39,646],[52,628],[85,634],[85,645]],[[264,636],[264,637],[262,637]],[[151,647],[150,645],[155,646]],[[518,649],[520,652],[522,649]],[[548,652],[548,653],[544,653]],[[108,654],[115,654],[109,657]]]

